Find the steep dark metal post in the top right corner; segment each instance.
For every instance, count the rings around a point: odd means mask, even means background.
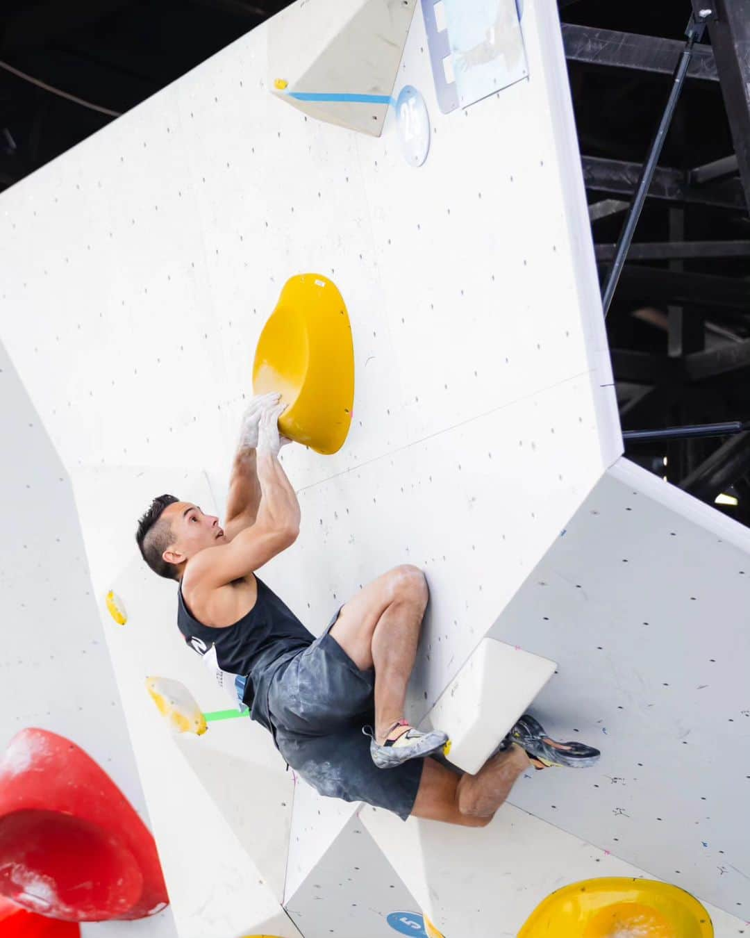
[[[750,0],[717,0],[709,35],[750,208]]]

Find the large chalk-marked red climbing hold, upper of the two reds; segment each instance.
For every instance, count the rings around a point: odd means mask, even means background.
[[[67,922],[143,918],[169,901],[154,839],[128,799],[46,730],[14,736],[0,761],[0,895]],[[50,938],[58,933],[67,938]]]

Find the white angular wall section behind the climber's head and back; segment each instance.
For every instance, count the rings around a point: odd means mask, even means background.
[[[203,473],[169,467],[95,467],[76,477],[92,582],[102,596],[99,584],[109,573],[106,582],[128,613],[126,626],[103,613],[105,635],[180,938],[298,938],[281,905],[293,774],[270,735],[249,719],[233,719],[210,723],[200,738],[173,737],[144,688],[146,675],[176,676],[204,712],[230,705],[203,659],[175,632],[176,592],[145,567],[130,529],[133,505],[148,504],[159,484],[179,487],[186,499],[214,510],[208,481]],[[109,525],[100,523],[105,505]],[[127,563],[119,568],[122,558]]]

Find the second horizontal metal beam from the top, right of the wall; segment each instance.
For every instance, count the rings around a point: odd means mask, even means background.
[[[632,195],[636,190],[641,164],[621,159],[581,157],[581,167],[586,189]],[[711,186],[690,186],[687,173],[666,166],[656,167],[648,195],[651,199],[665,199],[668,202],[715,205],[747,211],[738,179],[728,179]]]

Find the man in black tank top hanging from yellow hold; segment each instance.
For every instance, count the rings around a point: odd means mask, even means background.
[[[593,764],[596,749],[556,742],[528,715],[476,775],[439,761],[445,734],[421,733],[403,719],[428,604],[417,567],[368,583],[317,639],[255,575],[299,532],[299,504],[278,460],[289,442],[279,435],[278,401],[254,398],[243,417],[223,528],[200,507],[161,495],[136,539],[149,567],[179,582],[186,641],[245,679],[250,716],[273,734],[287,764],[321,794],[403,820],[470,827],[488,825],[531,766]]]

